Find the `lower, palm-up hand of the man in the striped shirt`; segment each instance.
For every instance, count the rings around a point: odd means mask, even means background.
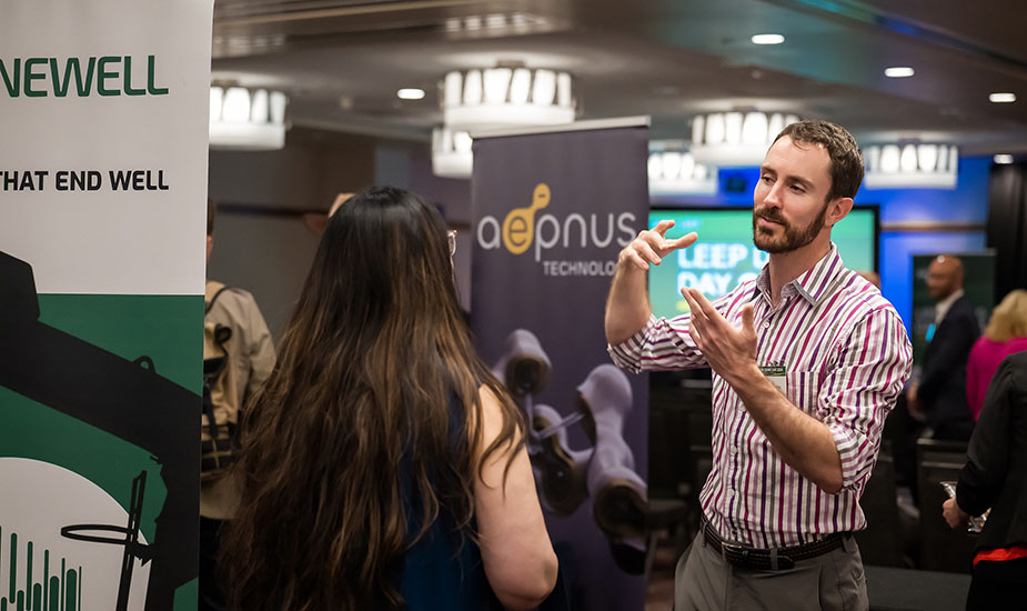
[[[692,308],[688,332],[706,362],[727,383],[748,375],[756,367],[756,328],[753,304],[742,308],[742,329],[735,329],[696,289],[684,288],[681,294]]]

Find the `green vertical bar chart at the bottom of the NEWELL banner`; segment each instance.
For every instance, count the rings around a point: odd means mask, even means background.
[[[23,554],[19,555],[20,551],[18,533],[8,535],[0,524],[0,575],[9,575],[7,583],[0,583],[0,611],[81,611],[82,567],[69,569],[62,558],[59,571],[51,570],[50,550],[43,550],[42,574],[33,574],[34,543],[26,542]],[[34,577],[42,580],[33,581]]]

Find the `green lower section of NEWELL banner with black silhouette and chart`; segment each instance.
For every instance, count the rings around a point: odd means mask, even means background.
[[[33,501],[24,499],[39,498],[40,490],[50,487],[47,494],[57,494],[57,501],[49,504],[66,508],[60,518],[52,519],[40,518],[40,511],[13,518],[0,512],[6,532],[23,534],[27,528],[33,529],[24,534],[30,542],[23,551],[12,537],[10,562],[7,567],[0,562],[0,583],[9,578],[12,585],[10,597],[0,600],[0,611],[58,609],[49,607],[51,601],[62,603],[58,611],[73,611],[90,600],[91,591],[99,608],[110,601],[110,609],[140,609],[129,605],[130,592],[141,597],[147,591],[149,569],[154,565],[151,559],[167,553],[164,561],[171,561],[179,553],[180,541],[161,537],[161,517],[195,511],[192,487],[199,481],[198,464],[185,471],[169,468],[191,455],[189,442],[199,433],[187,438],[160,422],[168,422],[170,415],[189,422],[190,431],[199,427],[202,335],[197,321],[203,318],[203,297],[42,294],[38,302],[38,331],[19,327],[4,335],[7,348],[24,353],[21,360],[31,361],[32,367],[7,367],[0,374],[0,420],[4,423],[0,428],[0,480],[8,484],[12,478],[28,478],[24,481],[31,482],[33,493],[20,495],[20,508],[33,507]],[[36,345],[33,338],[44,348]],[[165,394],[169,391],[172,394]],[[161,408],[167,408],[170,397],[177,397],[170,404],[179,408],[169,414]],[[193,399],[183,403],[188,397]],[[188,413],[190,407],[193,415]],[[121,421],[131,428],[120,427]],[[145,422],[152,424],[141,424]],[[163,442],[165,434],[180,441]],[[19,474],[27,468],[42,471],[33,471],[31,478]],[[75,478],[84,482],[83,489],[68,492],[64,499],[62,490]],[[114,510],[97,513],[88,509],[92,501],[102,505],[104,498]],[[82,503],[80,513],[77,503]],[[49,565],[57,547],[59,555],[74,564],[89,561],[93,567],[98,553],[109,554],[103,570],[112,572],[101,575],[102,583],[83,582],[81,569],[57,573]],[[44,550],[42,563],[40,549]],[[21,563],[18,554],[23,554]],[[91,573],[97,578],[98,568]],[[44,575],[43,581],[34,583],[33,574]],[[66,581],[66,594],[54,598],[51,583],[58,574]],[[22,580],[24,590],[14,591]],[[173,609],[194,609],[194,599],[182,593],[193,589],[194,581],[183,581]]]

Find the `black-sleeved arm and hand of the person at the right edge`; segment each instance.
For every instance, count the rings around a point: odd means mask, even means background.
[[[1009,464],[1011,410],[1017,401],[1015,381],[1015,367],[1006,358],[988,385],[966,451],[966,465],[959,472],[956,498],[943,505],[945,520],[953,528],[966,524],[968,515],[984,513],[1001,492]]]

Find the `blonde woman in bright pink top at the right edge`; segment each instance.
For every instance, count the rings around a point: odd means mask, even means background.
[[[1003,359],[1027,350],[1027,291],[1010,291],[991,312],[984,334],[970,349],[966,368],[966,400],[974,420],[980,415],[980,405],[988,383]]]

